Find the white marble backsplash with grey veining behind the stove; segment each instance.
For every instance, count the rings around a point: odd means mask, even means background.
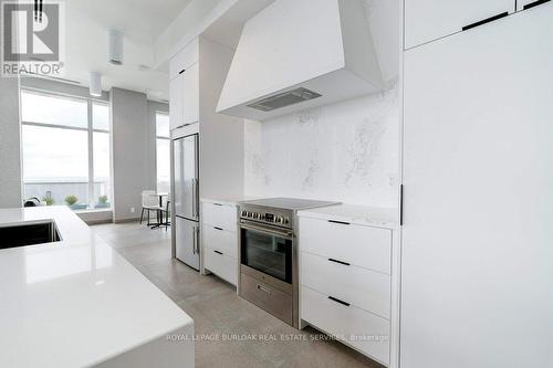
[[[379,93],[265,122],[247,120],[244,192],[396,207],[397,78]]]

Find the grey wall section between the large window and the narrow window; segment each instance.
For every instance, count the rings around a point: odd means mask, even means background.
[[[155,145],[144,93],[112,88],[112,178],[114,221],[136,219],[140,192],[156,188]],[[131,209],[134,208],[135,212]]]

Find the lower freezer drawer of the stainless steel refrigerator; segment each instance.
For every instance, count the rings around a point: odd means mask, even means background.
[[[198,222],[175,217],[175,241],[177,259],[189,266],[200,269]]]

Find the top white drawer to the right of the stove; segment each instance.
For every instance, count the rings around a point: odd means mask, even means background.
[[[300,218],[301,251],[390,273],[392,230]]]

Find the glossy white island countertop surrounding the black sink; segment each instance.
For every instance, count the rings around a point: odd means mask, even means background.
[[[0,209],[0,227],[54,220],[62,241],[0,250],[0,367],[88,367],[192,319],[66,207]]]

